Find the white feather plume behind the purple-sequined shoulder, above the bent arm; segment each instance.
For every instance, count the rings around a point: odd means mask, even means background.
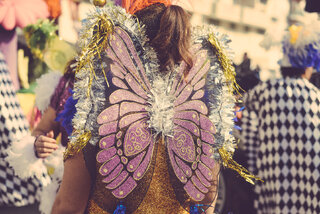
[[[60,72],[51,71],[43,74],[39,79],[36,80],[36,106],[41,112],[44,112],[48,108],[51,96],[61,77],[62,74]]]

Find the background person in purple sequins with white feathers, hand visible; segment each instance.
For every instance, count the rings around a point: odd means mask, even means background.
[[[28,133],[7,149],[6,159],[20,177],[40,177],[49,171],[51,181],[43,180],[44,187],[39,191],[39,209],[44,214],[51,212],[62,179],[63,152],[72,131],[72,127],[64,126],[68,119],[64,107],[72,94],[75,67],[76,60],[72,59],[63,75],[51,71],[37,80],[36,106],[42,112],[41,120],[31,136]]]

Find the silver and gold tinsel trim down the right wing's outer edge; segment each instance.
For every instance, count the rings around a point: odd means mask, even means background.
[[[211,113],[209,118],[216,125],[217,134],[215,134],[216,147],[214,158],[219,160],[223,166],[233,169],[239,173],[247,182],[254,184],[253,179],[260,180],[252,175],[247,169],[232,159],[234,150],[237,146],[234,136],[231,134],[234,127],[234,94],[236,91],[240,94],[240,86],[236,83],[235,70],[232,66],[232,51],[228,46],[231,41],[227,35],[220,34],[215,27],[203,25],[195,27],[193,30],[194,40],[202,43],[203,40],[209,42],[213,47],[214,53],[208,73],[208,90],[213,96],[210,96]]]

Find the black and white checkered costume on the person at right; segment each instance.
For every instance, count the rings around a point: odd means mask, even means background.
[[[320,91],[307,80],[263,82],[244,99],[241,139],[257,213],[320,213]]]

